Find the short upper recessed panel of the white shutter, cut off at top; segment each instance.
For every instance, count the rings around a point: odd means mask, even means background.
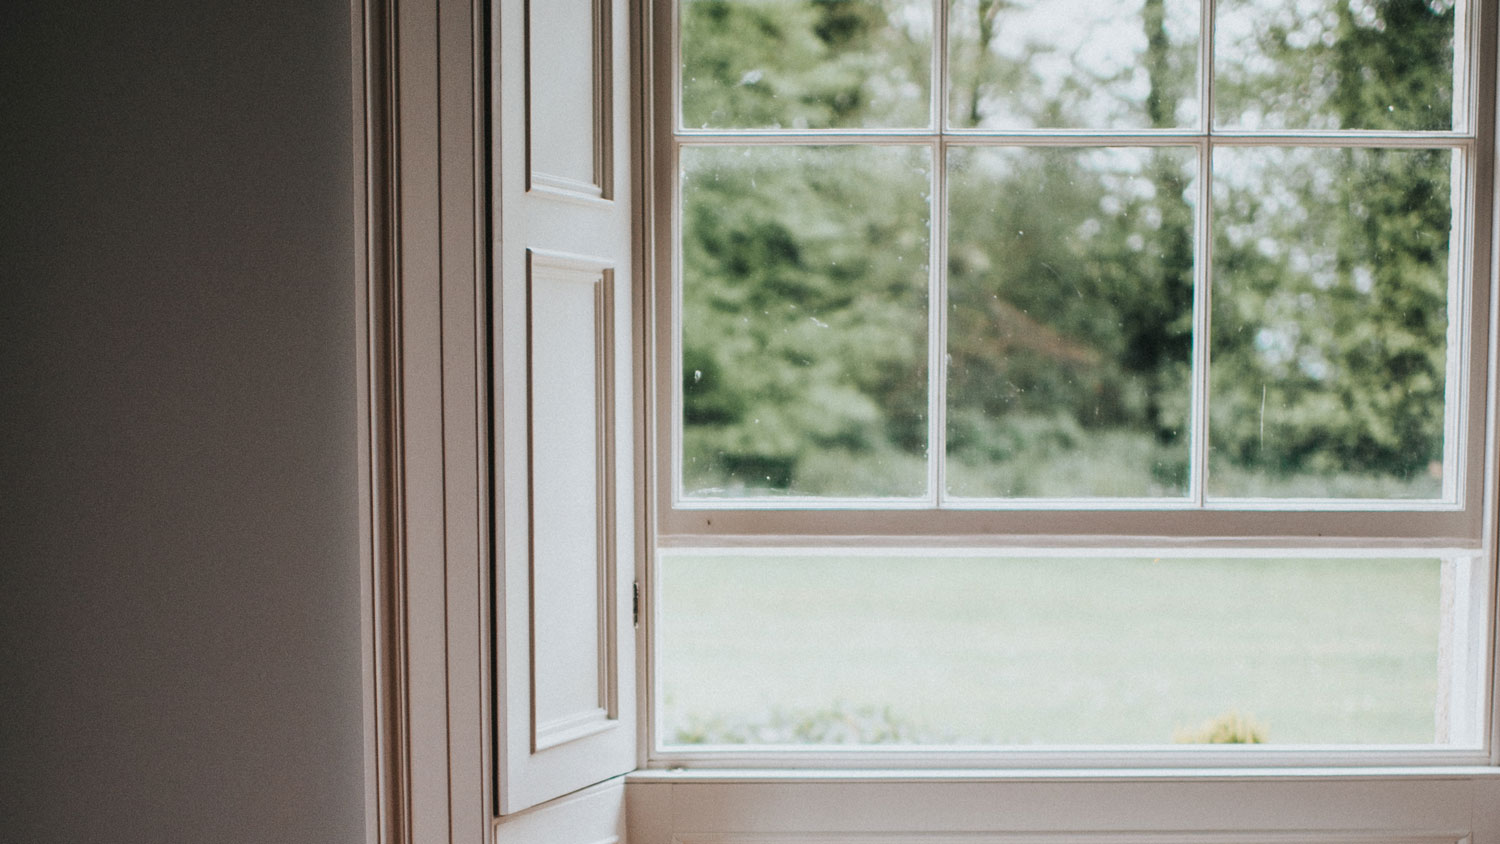
[[[530,187],[609,196],[612,0],[526,3]]]

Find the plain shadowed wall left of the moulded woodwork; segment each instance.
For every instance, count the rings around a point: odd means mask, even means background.
[[[0,841],[362,838],[348,6],[0,3]]]

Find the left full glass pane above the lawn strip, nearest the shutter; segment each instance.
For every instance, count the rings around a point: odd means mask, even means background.
[[[930,148],[681,162],[686,493],[924,493]]]

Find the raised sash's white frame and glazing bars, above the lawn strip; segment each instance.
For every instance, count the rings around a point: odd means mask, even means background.
[[[1455,24],[1454,126],[1443,130],[1328,130],[1328,129],[1216,129],[1212,108],[1200,108],[1196,126],[1170,129],[994,129],[950,126],[946,117],[945,15],[948,3],[934,3],[939,30],[934,39],[930,114],[922,129],[723,129],[684,127],[681,118],[681,58],[678,3],[658,0],[654,52],[652,114],[654,156],[654,276],[656,331],[656,510],[662,544],[758,543],[800,544],[873,543],[906,540],[924,544],[1016,544],[1029,541],[1072,544],[1170,544],[1236,541],[1242,544],[1362,544],[1473,549],[1484,541],[1492,489],[1490,445],[1492,415],[1488,399],[1492,369],[1491,330],[1491,220],[1492,220],[1492,100],[1494,27],[1479,25],[1492,15],[1492,3],[1461,3]],[[1212,4],[1203,12],[1198,66],[1210,67]],[[1200,72],[1200,102],[1212,103],[1212,73]],[[928,418],[927,489],[920,495],[890,498],[759,496],[714,498],[686,495],[681,486],[682,444],[682,286],[681,202],[684,150],[716,145],[926,145],[932,150],[933,246],[928,301],[946,292],[945,163],[956,148],[1017,147],[1182,147],[1197,154],[1198,199],[1194,256],[1192,445],[1191,484],[1172,498],[982,498],[952,496],[944,484],[945,405],[944,313],[928,313]],[[1204,489],[1208,474],[1206,396],[1208,297],[1212,247],[1212,162],[1216,150],[1252,147],[1329,148],[1444,148],[1454,156],[1450,181],[1454,222],[1448,300],[1448,372],[1444,399],[1443,492],[1425,499],[1338,498],[1215,498]]]

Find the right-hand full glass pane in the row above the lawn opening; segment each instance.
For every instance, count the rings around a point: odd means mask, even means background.
[[[1452,163],[1215,151],[1209,495],[1443,495]]]

